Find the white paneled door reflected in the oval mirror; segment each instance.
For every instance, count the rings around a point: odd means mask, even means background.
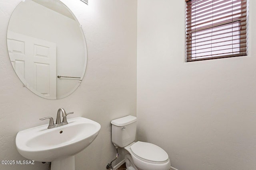
[[[8,52],[25,86],[56,99],[56,44],[8,31]]]

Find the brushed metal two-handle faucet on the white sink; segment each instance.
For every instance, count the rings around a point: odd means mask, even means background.
[[[62,112],[62,122],[60,120],[60,111]],[[59,127],[59,126],[63,126],[63,125],[67,125],[68,121],[67,121],[67,115],[69,114],[73,114],[74,112],[70,112],[70,113],[66,113],[66,111],[63,108],[58,109],[57,111],[57,118],[56,118],[56,124],[54,124],[53,118],[52,117],[44,117],[40,120],[45,120],[45,119],[50,119],[49,125],[47,127],[47,129],[52,129],[54,127]]]

